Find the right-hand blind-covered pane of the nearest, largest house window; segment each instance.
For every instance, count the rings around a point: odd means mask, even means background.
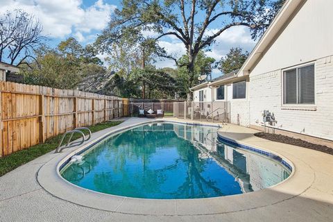
[[[298,103],[314,104],[314,65],[298,69]]]

